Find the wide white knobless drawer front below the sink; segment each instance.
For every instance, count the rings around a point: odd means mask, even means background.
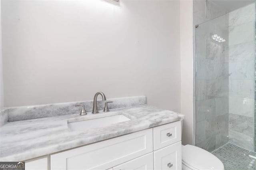
[[[152,152],[152,129],[51,155],[51,170],[107,169]]]

